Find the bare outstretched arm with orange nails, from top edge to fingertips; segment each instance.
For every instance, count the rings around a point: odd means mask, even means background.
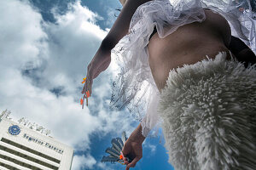
[[[93,79],[99,76],[102,71],[108,68],[111,62],[111,49],[119,42],[122,37],[128,33],[131,17],[135,13],[138,6],[151,0],[126,0],[124,8],[122,8],[117,20],[115,20],[112,28],[108,32],[107,37],[102,41],[100,48],[96,51],[94,58],[87,66],[86,82],[82,94],[86,98],[88,106],[88,97],[90,97]],[[87,92],[89,92],[87,96]],[[84,106],[84,103],[83,103]]]

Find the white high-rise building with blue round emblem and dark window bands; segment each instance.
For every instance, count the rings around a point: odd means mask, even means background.
[[[73,149],[32,127],[0,117],[0,169],[70,170]]]

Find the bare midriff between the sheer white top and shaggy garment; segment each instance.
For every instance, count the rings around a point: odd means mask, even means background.
[[[220,51],[228,52],[231,31],[219,14],[205,9],[207,19],[181,26],[165,38],[155,33],[148,42],[149,66],[159,91],[166,86],[169,71],[184,64],[214,58]]]

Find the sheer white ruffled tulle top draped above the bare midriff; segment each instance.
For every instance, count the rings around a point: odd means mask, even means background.
[[[249,0],[153,0],[139,6],[132,16],[129,34],[112,50],[119,74],[113,80],[110,108],[126,107],[141,122],[144,136],[161,122],[157,114],[160,92],[148,63],[148,38],[154,26],[163,38],[179,26],[202,22],[206,19],[203,8],[223,15],[232,35],[256,51],[255,15]]]

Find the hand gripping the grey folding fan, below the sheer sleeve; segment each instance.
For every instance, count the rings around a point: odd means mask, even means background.
[[[143,145],[136,140],[127,139],[122,152],[124,154],[123,160],[126,164],[125,170],[129,170],[130,167],[135,167],[137,161],[143,157]],[[128,156],[132,161],[127,161],[125,156]]]

